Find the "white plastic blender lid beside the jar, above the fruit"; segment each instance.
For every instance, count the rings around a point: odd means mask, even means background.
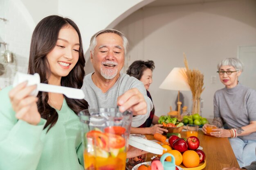
[[[162,155],[163,150],[167,150],[163,148],[161,145],[157,144],[156,142],[150,141],[148,139],[143,139],[141,137],[131,136],[129,137],[129,145],[135,148],[145,150],[149,153]]]

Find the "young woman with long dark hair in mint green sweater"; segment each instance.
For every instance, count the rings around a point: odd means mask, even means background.
[[[41,83],[80,89],[85,59],[76,24],[57,15],[41,20],[32,35],[29,74]],[[83,170],[78,112],[85,100],[39,92],[20,83],[0,91],[0,169]]]

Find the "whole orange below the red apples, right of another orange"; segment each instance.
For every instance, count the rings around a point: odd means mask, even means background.
[[[199,155],[194,150],[186,150],[183,154],[183,165],[186,168],[194,168],[199,165]]]

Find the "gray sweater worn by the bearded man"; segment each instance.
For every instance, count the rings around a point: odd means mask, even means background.
[[[137,78],[120,73],[117,82],[106,93],[103,93],[101,89],[93,83],[92,73],[90,73],[83,79],[83,87],[81,89],[85,93],[85,100],[88,102],[89,107],[98,108],[117,107],[117,97],[131,88],[137,88],[144,95],[147,102],[147,113],[132,118],[132,127],[138,127],[148,118],[150,111],[153,109],[153,103],[147,96],[143,83]]]

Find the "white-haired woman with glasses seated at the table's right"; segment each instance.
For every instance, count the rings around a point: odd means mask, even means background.
[[[237,58],[227,58],[218,64],[220,81],[225,88],[214,94],[214,119],[217,126],[210,135],[229,137],[240,167],[256,161],[256,92],[238,83],[243,63]],[[254,80],[255,81],[255,80]],[[227,125],[223,129],[223,124]],[[206,133],[206,126],[203,132]]]

